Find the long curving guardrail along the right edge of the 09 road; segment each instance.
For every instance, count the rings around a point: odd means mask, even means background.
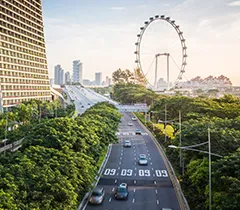
[[[181,210],[190,210],[190,207],[188,205],[188,202],[182,192],[182,189],[181,189],[181,186],[178,182],[178,179],[177,179],[177,176],[174,172],[174,169],[172,167],[172,164],[169,162],[164,150],[162,149],[161,145],[159,144],[159,142],[157,141],[157,139],[153,136],[153,134],[145,127],[145,125],[140,121],[138,120],[139,123],[143,126],[143,128],[145,129],[145,131],[149,134],[149,136],[151,136],[151,138],[153,139],[155,145],[157,146],[158,150],[159,150],[159,153],[160,155],[162,156],[163,158],[163,161],[167,167],[167,170],[168,172],[170,172],[170,178],[172,180],[172,183],[173,183],[173,186],[174,186],[174,189],[175,189],[175,192],[176,192],[176,195],[177,195],[177,199],[178,199],[178,202],[179,202],[179,205],[180,205],[180,208]]]

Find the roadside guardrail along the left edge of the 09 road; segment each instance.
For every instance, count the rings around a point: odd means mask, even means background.
[[[107,151],[107,153],[106,153],[106,155],[104,157],[104,160],[103,160],[103,162],[102,162],[102,164],[101,164],[101,166],[100,166],[100,168],[98,170],[98,175],[95,177],[96,181],[92,184],[93,188],[95,188],[97,186],[97,184],[99,182],[99,179],[102,176],[103,169],[105,168],[105,166],[107,164],[107,161],[109,159],[111,151],[112,151],[112,144],[109,144],[108,145],[108,151]],[[78,206],[77,210],[84,210],[86,208],[86,206],[88,204],[88,201],[89,201],[89,198],[90,198],[90,195],[91,195],[91,192],[92,192],[92,189],[85,194],[85,196],[83,197],[83,199],[82,199],[80,205]]]

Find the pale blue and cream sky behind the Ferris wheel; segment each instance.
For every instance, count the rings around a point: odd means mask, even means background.
[[[183,80],[225,75],[240,85],[240,0],[42,0],[50,78],[60,64],[72,72],[83,63],[83,78],[103,79],[121,69],[133,70],[135,42],[149,17],[169,16],[180,26],[187,46]],[[154,77],[154,56],[170,53],[170,80],[179,73],[181,42],[174,28],[159,20],[141,42],[143,72]],[[166,58],[158,59],[158,77],[166,79]]]

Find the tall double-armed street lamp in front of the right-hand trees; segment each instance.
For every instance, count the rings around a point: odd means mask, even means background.
[[[198,149],[194,149],[194,147],[199,147],[202,146],[204,144],[208,144],[208,152],[207,151],[203,151],[203,150],[198,150]],[[209,172],[209,210],[212,209],[212,165],[211,165],[211,156],[216,156],[216,157],[223,157],[222,155],[218,155],[215,153],[211,153],[211,136],[210,136],[210,129],[208,128],[208,141],[207,142],[203,142],[200,144],[195,144],[195,145],[190,145],[190,146],[184,146],[184,147],[177,147],[175,145],[169,145],[169,148],[173,148],[173,149],[183,149],[183,150],[191,150],[191,151],[195,151],[195,152],[201,152],[201,153],[206,153],[208,154],[208,159],[209,159],[209,166],[208,166],[208,172]]]

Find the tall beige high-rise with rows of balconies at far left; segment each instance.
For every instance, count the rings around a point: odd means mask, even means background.
[[[1,109],[51,100],[41,0],[0,1],[0,97]]]

